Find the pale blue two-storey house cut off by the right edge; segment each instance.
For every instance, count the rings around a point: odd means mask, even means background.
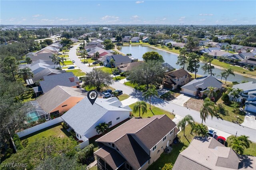
[[[237,102],[245,103],[244,110],[256,112],[256,83],[253,81],[247,83],[241,83],[233,85],[233,89],[242,89],[243,93],[238,95],[235,99]],[[233,99],[233,96],[229,94],[230,99]]]

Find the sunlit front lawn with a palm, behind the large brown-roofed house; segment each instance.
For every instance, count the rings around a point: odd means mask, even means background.
[[[130,107],[131,109],[133,109],[133,106],[134,106],[134,105],[135,105],[135,103],[133,103],[132,105],[129,105],[129,107]],[[139,113],[134,113],[134,112],[132,111],[132,114],[133,114],[135,117],[139,117]],[[160,108],[158,108],[158,107],[154,107],[153,105],[151,105],[151,110],[150,110],[148,103],[147,103],[147,112],[142,115],[142,112],[140,111],[140,116],[141,116],[142,118],[152,117],[152,116],[154,116],[154,115],[167,115],[170,119],[174,119],[174,117],[175,117],[175,116],[172,115],[170,112],[165,111],[165,110],[162,110],[162,109],[160,109]]]

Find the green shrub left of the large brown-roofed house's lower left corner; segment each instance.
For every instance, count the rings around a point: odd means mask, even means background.
[[[78,151],[76,153],[77,162],[81,164],[87,164],[87,165],[90,164],[90,162],[93,162],[94,161],[93,149],[94,149],[94,145],[89,144],[82,150]]]

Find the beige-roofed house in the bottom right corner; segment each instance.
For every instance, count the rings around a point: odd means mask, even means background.
[[[194,137],[172,170],[255,170],[255,156],[238,156],[212,137]]]

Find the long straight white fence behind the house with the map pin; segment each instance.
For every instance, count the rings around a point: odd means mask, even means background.
[[[63,121],[63,119],[62,119],[61,117],[57,117],[56,119],[52,119],[51,121],[42,123],[42,124],[40,124],[40,125],[36,125],[36,126],[34,126],[34,127],[28,128],[28,129],[26,129],[26,130],[22,130],[22,131],[18,132],[17,134],[18,134],[18,136],[21,138],[21,137],[23,137],[23,136],[26,136],[26,135],[28,135],[28,134],[34,133],[34,132],[36,132],[36,131],[38,131],[38,130],[41,130],[41,129],[43,129],[43,128],[50,127],[50,126],[55,125],[55,124],[57,124],[57,123],[60,123],[60,122],[62,122],[62,121]],[[88,143],[89,143],[89,141],[88,141]],[[82,143],[81,143],[81,144],[82,144]]]

